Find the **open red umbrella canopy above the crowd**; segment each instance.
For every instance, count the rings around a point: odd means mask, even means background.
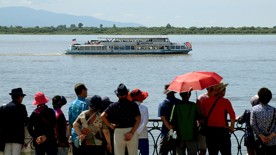
[[[190,90],[203,90],[207,87],[219,84],[222,77],[215,72],[190,72],[177,76],[167,90],[182,93]]]

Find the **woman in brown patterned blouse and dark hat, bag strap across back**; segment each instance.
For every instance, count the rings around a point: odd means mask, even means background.
[[[102,99],[98,95],[86,99],[85,102],[89,105],[90,110],[83,111],[73,123],[73,127],[80,138],[79,148],[81,154],[86,154],[93,150],[93,154],[105,155],[103,136],[105,136],[107,142],[107,149],[111,152],[108,126],[102,121],[102,113],[98,111],[103,109],[101,101]]]

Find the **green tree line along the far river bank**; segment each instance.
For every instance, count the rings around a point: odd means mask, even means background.
[[[167,24],[165,27],[82,27],[83,24],[79,23],[78,26],[71,24],[69,28],[66,25],[59,25],[57,27],[42,27],[36,26],[34,28],[22,28],[22,26],[0,26],[0,34],[108,34],[108,35],[168,35],[168,34],[275,34],[276,26],[273,28],[267,27],[190,27],[179,28]]]

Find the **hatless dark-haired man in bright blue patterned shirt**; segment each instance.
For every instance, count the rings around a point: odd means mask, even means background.
[[[85,87],[85,85],[82,83],[76,84],[75,92],[77,94],[77,98],[69,106],[68,130],[69,130],[69,137],[71,136],[71,140],[72,140],[72,142],[70,142],[70,140],[69,140],[69,143],[70,143],[70,145],[72,145],[73,155],[78,155],[78,154],[80,154],[79,148],[75,147],[75,145],[74,145],[76,137],[78,135],[73,128],[73,123],[75,122],[75,120],[77,119],[79,114],[82,113],[82,111],[89,110],[89,106],[85,103],[85,98],[87,97],[87,88]]]

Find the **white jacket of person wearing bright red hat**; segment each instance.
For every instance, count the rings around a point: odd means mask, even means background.
[[[137,128],[138,131],[138,138],[148,138],[148,108],[144,105],[141,105],[141,102],[135,101],[139,107],[141,113],[141,122],[139,127]]]

